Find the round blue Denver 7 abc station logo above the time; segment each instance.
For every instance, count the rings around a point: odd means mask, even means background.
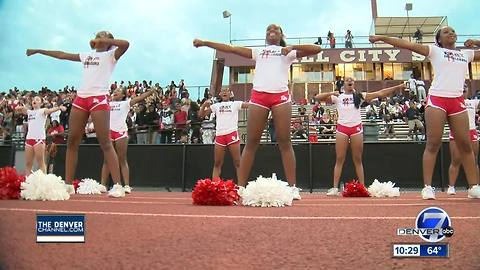
[[[418,235],[431,243],[451,237],[453,232],[450,217],[439,207],[428,207],[420,211],[415,220],[415,228],[397,229],[397,235]]]

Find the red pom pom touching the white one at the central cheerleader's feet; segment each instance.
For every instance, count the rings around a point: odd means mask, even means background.
[[[237,190],[232,180],[200,179],[195,184],[192,199],[198,205],[234,205],[239,200]]]

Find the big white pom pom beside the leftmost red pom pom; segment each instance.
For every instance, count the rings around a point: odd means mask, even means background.
[[[21,185],[20,196],[25,200],[58,201],[70,199],[65,182],[60,176],[44,174],[41,170],[30,174]]]

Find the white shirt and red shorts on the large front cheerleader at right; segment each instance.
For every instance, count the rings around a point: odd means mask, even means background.
[[[429,89],[427,106],[439,108],[448,116],[465,111],[463,84],[473,50],[450,50],[429,45],[428,58],[435,74]]]

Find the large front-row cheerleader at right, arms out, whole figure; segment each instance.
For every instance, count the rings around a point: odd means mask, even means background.
[[[468,63],[480,60],[480,51],[460,50],[456,48],[457,34],[450,26],[439,29],[435,35],[435,45],[423,45],[403,39],[385,36],[371,36],[370,42],[383,41],[398,48],[408,49],[426,56],[432,66],[435,77],[429,89],[425,122],[427,128],[427,144],[423,152],[422,198],[435,199],[432,188],[433,169],[438,150],[442,145],[443,128],[448,121],[450,130],[455,134],[455,144],[467,181],[470,185],[469,198],[480,198],[477,165],[470,143],[468,114],[463,98],[463,84],[468,72]],[[477,45],[478,41],[467,40],[467,47]]]

